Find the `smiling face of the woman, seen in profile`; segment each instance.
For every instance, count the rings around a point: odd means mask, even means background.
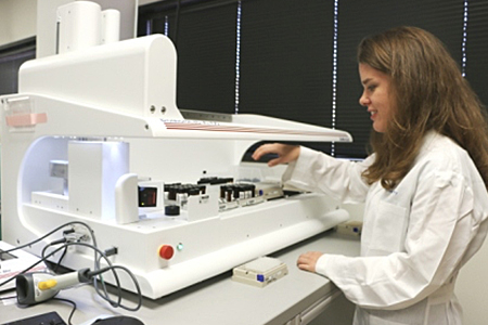
[[[373,129],[383,133],[393,114],[390,100],[390,78],[388,75],[372,68],[367,64],[359,64],[359,76],[364,87],[359,104],[368,107],[373,121]]]

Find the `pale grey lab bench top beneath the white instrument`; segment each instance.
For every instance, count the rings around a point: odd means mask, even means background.
[[[56,297],[76,302],[73,325],[84,324],[100,315],[120,314],[138,317],[145,325],[295,325],[305,324],[300,321],[306,318],[301,315],[304,312],[309,313],[308,318],[343,318],[348,322],[352,317],[354,307],[338,289],[326,277],[296,266],[301,252],[313,250],[358,256],[359,237],[331,230],[269,255],[286,263],[288,274],[264,288],[234,282],[231,280],[232,272],[228,271],[157,300],[144,298],[141,309],[136,312],[112,308],[91,285],[62,290]],[[10,290],[0,297],[13,295],[15,291]],[[342,301],[341,307],[328,307],[330,300]],[[123,303],[134,307],[136,295],[124,292]],[[319,309],[313,310],[314,306]],[[52,311],[67,323],[72,309],[69,303],[57,300],[25,308],[17,306],[15,299],[9,299],[0,302],[0,324]],[[320,324],[325,323],[320,321]],[[314,323],[307,321],[307,324]]]

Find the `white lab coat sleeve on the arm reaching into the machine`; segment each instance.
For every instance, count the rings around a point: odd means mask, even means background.
[[[363,203],[369,185],[361,173],[373,159],[339,160],[303,146],[298,159],[283,173],[283,182],[305,191],[325,193],[343,203]]]

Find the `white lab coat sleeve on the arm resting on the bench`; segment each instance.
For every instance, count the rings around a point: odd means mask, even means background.
[[[434,172],[418,184],[404,251],[356,258],[325,253],[319,258],[316,272],[329,277],[360,307],[410,307],[450,281],[464,262],[486,219],[474,213],[473,196],[461,176]]]

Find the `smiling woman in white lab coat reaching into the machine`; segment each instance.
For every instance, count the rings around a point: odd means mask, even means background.
[[[488,130],[483,107],[441,42],[399,27],[358,49],[373,154],[336,160],[306,147],[254,153],[290,162],[283,180],[364,203],[361,256],[317,251],[298,268],[325,275],[356,303],[354,324],[461,324],[459,270],[488,230]]]

